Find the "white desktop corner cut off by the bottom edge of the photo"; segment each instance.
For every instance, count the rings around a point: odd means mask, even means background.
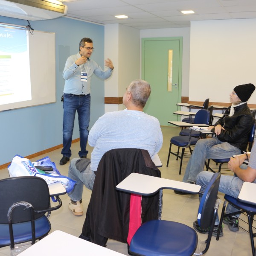
[[[106,247],[56,230],[19,254],[20,256],[122,256]]]

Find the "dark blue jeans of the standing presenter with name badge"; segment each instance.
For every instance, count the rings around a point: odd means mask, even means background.
[[[89,135],[88,127],[90,122],[90,94],[83,97],[64,93],[63,102],[63,149],[61,154],[71,157],[71,143],[74,129],[76,111],[78,113],[78,124],[80,134],[79,157],[87,156],[87,139]]]

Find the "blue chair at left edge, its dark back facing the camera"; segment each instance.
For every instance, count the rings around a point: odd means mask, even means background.
[[[45,215],[61,207],[50,207],[49,188],[40,177],[12,177],[0,180],[0,247],[41,239],[51,230]],[[49,215],[48,215],[49,216]]]

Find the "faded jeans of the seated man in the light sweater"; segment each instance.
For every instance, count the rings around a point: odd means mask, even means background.
[[[90,164],[82,172],[76,168],[76,161],[79,159],[80,158],[73,158],[68,169],[68,177],[76,181],[74,189],[68,193],[68,195],[71,200],[76,202],[82,199],[84,186],[86,186],[87,189],[93,190],[95,180],[95,173],[90,169]]]

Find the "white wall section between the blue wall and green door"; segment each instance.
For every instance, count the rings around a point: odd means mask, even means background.
[[[105,58],[111,58],[113,76],[105,82],[105,97],[121,97],[134,79],[140,78],[140,30],[121,24],[105,25]],[[125,106],[105,104],[105,112]]]

